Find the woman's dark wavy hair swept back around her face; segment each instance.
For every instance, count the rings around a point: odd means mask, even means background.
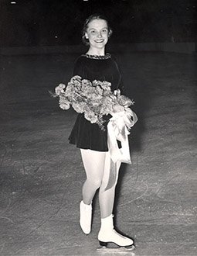
[[[110,28],[109,26],[109,22],[107,20],[107,18],[101,14],[93,14],[91,16],[89,16],[85,22],[84,22],[84,25],[83,25],[83,30],[82,30],[82,41],[85,45],[90,45],[89,43],[89,40],[86,38],[85,34],[87,33],[87,27],[88,27],[88,24],[93,21],[94,19],[104,19],[106,22],[107,22],[107,29],[108,29],[108,37],[110,38],[111,34],[112,34],[112,29]]]

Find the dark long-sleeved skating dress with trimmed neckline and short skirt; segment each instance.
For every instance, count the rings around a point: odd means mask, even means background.
[[[121,73],[117,62],[110,54],[104,56],[81,55],[76,59],[73,75],[80,75],[81,78],[89,81],[109,81],[112,92],[119,88],[123,93]],[[109,119],[110,115],[105,117]],[[107,122],[104,125],[107,126]],[[90,123],[85,119],[83,113],[78,114],[69,140],[70,144],[75,144],[76,147],[82,149],[108,151],[107,127],[105,130],[101,130],[97,123]]]

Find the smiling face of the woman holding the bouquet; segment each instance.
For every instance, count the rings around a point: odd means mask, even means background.
[[[108,41],[108,26],[104,19],[93,19],[88,23],[86,38],[90,47],[102,49]]]

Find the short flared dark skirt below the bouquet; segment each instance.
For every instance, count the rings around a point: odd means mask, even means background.
[[[70,144],[82,149],[108,151],[107,147],[107,122],[104,130],[97,123],[90,123],[83,114],[78,114],[73,130],[70,133]]]

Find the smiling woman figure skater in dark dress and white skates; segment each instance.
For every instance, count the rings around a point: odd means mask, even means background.
[[[86,20],[83,26],[83,43],[89,46],[89,50],[87,54],[76,59],[73,75],[80,75],[81,78],[89,81],[109,81],[111,91],[117,94],[119,89],[122,94],[124,88],[117,63],[110,54],[105,54],[105,46],[111,33],[112,30],[104,16],[92,15]],[[110,159],[107,147],[107,117],[106,129],[101,130],[97,123],[90,123],[85,119],[83,113],[78,114],[69,137],[70,144],[80,148],[87,175],[83,184],[83,200],[80,202],[80,227],[84,234],[90,234],[92,201],[95,192],[99,189],[100,245],[107,246],[107,243],[112,242],[120,247],[130,247],[134,241],[114,230],[112,213],[121,161],[114,164]]]

